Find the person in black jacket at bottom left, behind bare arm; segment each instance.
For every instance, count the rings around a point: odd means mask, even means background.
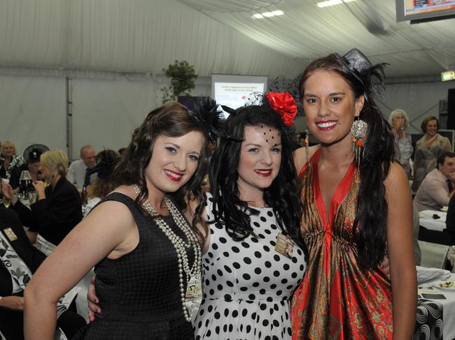
[[[45,255],[30,244],[15,212],[0,207],[0,332],[6,340],[24,339],[24,289],[43,260]],[[84,318],[75,311],[59,313],[57,328],[68,339],[83,325]]]

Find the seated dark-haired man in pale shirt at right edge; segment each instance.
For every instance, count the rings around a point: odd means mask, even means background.
[[[455,193],[455,154],[443,152],[437,157],[437,168],[432,170],[419,186],[414,205],[422,210],[440,210],[449,205]]]

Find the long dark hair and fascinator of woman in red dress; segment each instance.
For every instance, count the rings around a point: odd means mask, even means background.
[[[360,267],[372,269],[381,262],[386,251],[388,207],[384,180],[390,171],[395,151],[391,126],[374,103],[374,94],[384,87],[384,64],[372,66],[366,57],[362,61],[359,71],[338,54],[316,59],[302,75],[300,98],[302,100],[304,95],[305,81],[318,70],[337,73],[349,84],[355,98],[365,98],[360,119],[368,124],[368,132],[359,168],[360,189],[353,226]]]

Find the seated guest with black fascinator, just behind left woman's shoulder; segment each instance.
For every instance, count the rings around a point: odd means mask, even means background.
[[[83,205],[84,217],[98,204],[104,196],[113,191],[114,186],[109,181],[113,169],[116,168],[120,155],[117,151],[106,149],[98,152],[97,165],[94,168],[87,170],[87,175],[96,174],[92,184],[87,188],[87,202]]]

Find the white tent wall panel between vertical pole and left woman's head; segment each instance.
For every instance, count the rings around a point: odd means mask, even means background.
[[[72,80],[73,158],[81,146],[126,147],[134,128],[157,106],[153,80]]]

